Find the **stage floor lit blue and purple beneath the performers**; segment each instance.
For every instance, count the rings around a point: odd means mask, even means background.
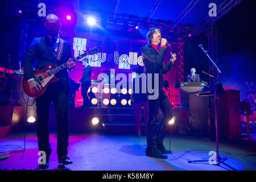
[[[56,169],[56,135],[50,134],[52,154],[50,169]],[[164,138],[164,146],[169,148],[170,135]],[[9,159],[0,160],[0,169],[11,170],[19,162],[23,152],[15,150],[24,147],[23,133],[12,133],[0,139],[0,152],[10,152]],[[71,170],[89,171],[180,171],[180,170],[232,170],[224,164],[220,166],[204,163],[188,163],[189,160],[208,160],[209,151],[216,150],[214,140],[195,136],[173,134],[171,138],[171,154],[168,159],[147,157],[146,136],[105,135],[103,133],[72,132],[69,137],[68,156],[73,164],[66,167]],[[185,152],[189,151],[189,152]],[[256,170],[256,146],[243,144],[241,140],[221,140],[219,143],[221,156],[228,160],[226,164],[237,170]],[[38,166],[38,140],[36,133],[26,134],[26,151],[15,169],[34,169]]]

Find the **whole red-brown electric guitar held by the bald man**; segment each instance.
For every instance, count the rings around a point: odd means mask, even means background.
[[[87,55],[93,55],[94,53],[98,53],[100,51],[101,51],[100,48],[94,47],[92,49],[89,49],[89,51],[83,53],[82,55],[75,57],[74,59],[72,59],[72,61],[75,62],[77,60],[82,59],[82,57],[85,57]],[[34,71],[35,81],[37,81],[40,84],[40,86],[42,87],[42,90],[38,91],[37,93],[31,93],[30,86],[28,85],[27,80],[23,78],[22,87],[24,92],[30,97],[41,96],[46,91],[49,83],[59,80],[59,78],[55,77],[55,74],[67,67],[68,67],[67,62],[65,62],[58,66],[55,64],[48,64],[42,70],[35,70]]]

